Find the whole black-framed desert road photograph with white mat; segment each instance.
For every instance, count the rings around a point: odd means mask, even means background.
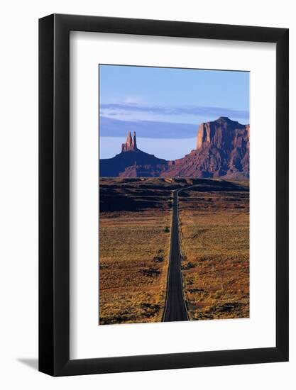
[[[288,30],[39,21],[39,370],[288,360]]]

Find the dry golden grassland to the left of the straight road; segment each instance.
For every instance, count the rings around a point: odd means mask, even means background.
[[[100,325],[161,321],[170,195],[165,179],[100,180]]]

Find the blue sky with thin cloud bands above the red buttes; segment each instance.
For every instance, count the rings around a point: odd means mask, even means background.
[[[249,123],[249,72],[99,65],[100,158],[119,153],[131,130],[139,149],[175,160],[219,116]]]

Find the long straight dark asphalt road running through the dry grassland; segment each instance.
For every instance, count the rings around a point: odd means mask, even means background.
[[[189,187],[183,188],[187,189]],[[183,189],[172,192],[172,226],[170,232],[170,264],[168,268],[167,296],[163,322],[187,321],[187,308],[184,301],[181,275],[181,251],[179,236],[178,194]]]

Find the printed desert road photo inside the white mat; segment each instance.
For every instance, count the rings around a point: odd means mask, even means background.
[[[248,318],[249,73],[99,80],[99,325]]]

